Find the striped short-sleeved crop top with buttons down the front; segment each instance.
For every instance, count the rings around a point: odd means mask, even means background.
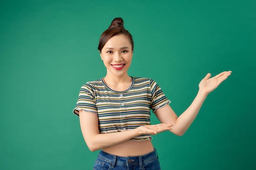
[[[79,110],[98,115],[101,134],[122,132],[150,124],[150,110],[155,112],[171,101],[152,79],[131,77],[132,83],[125,91],[109,88],[103,79],[87,82],[79,92],[73,113]],[[148,140],[150,135],[141,135],[132,140]]]

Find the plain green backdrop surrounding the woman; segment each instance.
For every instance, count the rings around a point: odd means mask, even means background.
[[[153,136],[162,170],[255,170],[255,0],[1,0],[0,170],[92,169],[72,109],[106,74],[114,17],[134,38],[129,75],[156,80],[177,115],[208,72],[233,71],[184,136]]]

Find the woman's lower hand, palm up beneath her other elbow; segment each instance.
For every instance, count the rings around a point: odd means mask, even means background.
[[[160,123],[155,125],[139,126],[137,128],[140,135],[156,135],[160,132],[171,130],[173,125],[167,123]]]

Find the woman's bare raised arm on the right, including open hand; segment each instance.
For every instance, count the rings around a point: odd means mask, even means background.
[[[199,90],[195,99],[179,117],[177,117],[175,112],[171,109],[170,105],[156,109],[156,117],[162,123],[172,124],[173,126],[170,131],[177,136],[182,136],[197,116],[207,95],[226,80],[231,75],[231,72],[232,71],[224,71],[212,78],[210,78],[211,74],[208,73],[199,83]]]

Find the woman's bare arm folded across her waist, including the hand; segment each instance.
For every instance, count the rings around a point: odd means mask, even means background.
[[[171,130],[170,124],[157,124],[140,126],[136,129],[114,132],[108,134],[100,134],[98,128],[98,116],[94,113],[79,111],[80,126],[85,142],[90,151],[104,149],[129,140],[140,135],[156,135],[157,133]]]

